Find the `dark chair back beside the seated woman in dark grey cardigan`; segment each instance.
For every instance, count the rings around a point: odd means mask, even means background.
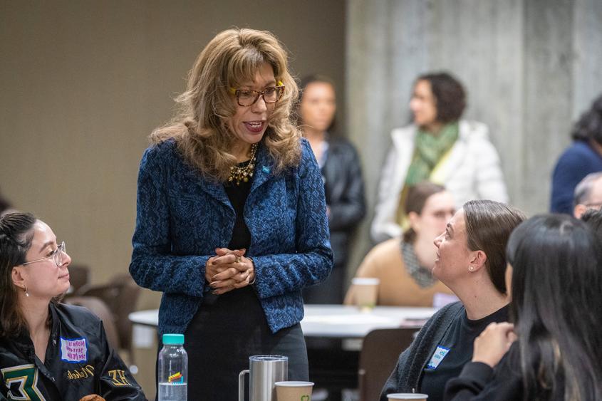
[[[358,369],[360,401],[378,400],[399,354],[410,346],[418,330],[385,328],[372,330],[365,336]]]

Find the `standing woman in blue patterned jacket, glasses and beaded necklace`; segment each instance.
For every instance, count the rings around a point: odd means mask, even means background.
[[[271,33],[218,33],[140,162],[130,272],[163,292],[159,333],[185,334],[203,400],[234,400],[250,355],[286,355],[289,380],[308,378],[301,289],[332,251],[320,170],[289,119],[297,94]]]

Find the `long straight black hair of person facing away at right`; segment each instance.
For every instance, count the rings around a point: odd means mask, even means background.
[[[525,399],[602,399],[601,251],[568,215],[533,217],[510,236],[513,350]]]

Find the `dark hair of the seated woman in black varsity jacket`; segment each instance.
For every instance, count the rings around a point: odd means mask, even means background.
[[[17,335],[26,327],[11,275],[14,266],[25,262],[36,220],[30,213],[9,213],[0,217],[0,338]]]

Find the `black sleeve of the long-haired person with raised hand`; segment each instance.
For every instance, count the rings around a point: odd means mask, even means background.
[[[507,355],[492,369],[486,363],[469,362],[460,376],[445,385],[445,401],[507,401],[522,399],[520,375],[512,372]]]

